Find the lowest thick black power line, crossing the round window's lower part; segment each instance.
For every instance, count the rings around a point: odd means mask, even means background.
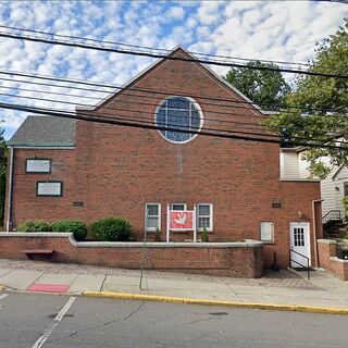
[[[145,128],[145,129],[158,129],[158,130],[166,130],[166,132],[178,132],[178,133],[188,133],[188,134],[200,134],[206,136],[215,136],[215,137],[223,137],[223,138],[231,138],[231,139],[240,139],[240,140],[250,140],[250,141],[260,141],[260,142],[272,142],[272,144],[283,144],[284,141],[281,139],[270,139],[269,137],[274,137],[272,134],[262,134],[263,138],[256,138],[256,137],[246,137],[246,136],[239,136],[235,135],[235,133],[238,134],[245,134],[245,135],[257,135],[254,133],[247,133],[247,132],[234,132],[229,129],[213,129],[213,128],[204,128],[202,129],[190,129],[190,127],[187,126],[161,126],[157,125],[152,122],[141,122],[136,123],[129,119],[122,119],[117,116],[105,116],[103,114],[96,114],[96,113],[73,113],[67,110],[57,110],[57,109],[45,109],[45,108],[37,108],[37,107],[27,107],[27,105],[21,105],[21,104],[11,104],[11,103],[3,103],[0,102],[0,109],[10,109],[10,110],[16,110],[16,111],[26,111],[26,112],[33,112],[37,114],[44,114],[44,115],[50,115],[50,116],[61,116],[61,117],[67,117],[67,119],[74,119],[74,120],[82,120],[82,121],[91,121],[97,123],[107,123],[107,124],[115,124],[121,126],[129,126],[129,127],[137,127],[137,128]],[[127,115],[124,115],[127,116]],[[189,128],[189,129],[187,129]],[[207,130],[214,130],[207,132]],[[221,134],[216,132],[223,132],[228,133]],[[268,138],[264,138],[268,137]],[[304,139],[300,138],[299,139]],[[327,140],[319,140],[318,141],[327,141]],[[311,142],[304,142],[304,141],[298,141],[298,140],[288,140],[287,144],[291,144],[294,146],[307,146],[307,147],[316,147],[316,148],[331,148],[331,149],[341,149],[341,147],[327,145],[327,144],[311,144]],[[343,145],[346,145],[347,142],[343,141],[336,141],[341,142]]]

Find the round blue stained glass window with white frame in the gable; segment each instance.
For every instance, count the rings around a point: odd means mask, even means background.
[[[165,139],[183,144],[197,136],[197,132],[202,127],[203,117],[198,103],[194,99],[170,97],[164,99],[157,108],[156,124],[161,127],[159,133]],[[190,133],[190,130],[194,133]]]

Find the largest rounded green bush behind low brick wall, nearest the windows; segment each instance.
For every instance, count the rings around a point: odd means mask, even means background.
[[[102,241],[132,240],[132,225],[122,217],[103,217],[90,224],[91,236]]]

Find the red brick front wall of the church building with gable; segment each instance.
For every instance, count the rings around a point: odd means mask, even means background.
[[[260,123],[263,115],[251,107],[195,97],[243,100],[200,65],[163,61],[132,86],[191,96],[202,109],[203,128],[263,130],[254,125],[240,124]],[[158,94],[130,95],[125,91],[98,108],[97,112],[129,120],[136,115],[153,122],[157,104],[164,98]],[[221,107],[222,103],[225,107]],[[213,121],[216,119],[237,123],[222,124]],[[21,159],[29,154],[22,150],[16,152]],[[303,220],[312,222],[311,201],[320,198],[318,183],[279,182],[279,147],[272,144],[197,136],[187,144],[175,145],[153,129],[79,121],[76,150],[70,153],[75,153],[70,162],[72,165],[52,175],[69,181],[64,183],[64,198],[29,196],[28,199],[23,191],[34,190],[37,178],[21,177],[18,166],[22,164],[15,163],[14,225],[27,217],[77,217],[91,222],[117,215],[129,220],[141,238],[145,203],[160,202],[164,239],[167,203],[186,202],[188,209],[192,209],[194,203],[211,202],[214,211],[211,240],[259,239],[260,222],[273,221],[275,240],[273,247],[265,249],[265,265],[270,265],[271,251],[275,250],[279,265],[286,268],[289,222],[297,221],[298,211],[302,212]],[[46,156],[51,156],[54,162],[61,154],[52,151]],[[85,207],[73,208],[74,200],[84,201]],[[273,202],[281,202],[282,208],[272,209]],[[173,238],[185,239],[187,236],[173,235]]]

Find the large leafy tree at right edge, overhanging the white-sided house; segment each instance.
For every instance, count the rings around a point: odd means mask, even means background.
[[[335,35],[316,44],[314,58],[309,64],[311,72],[347,75],[348,18]],[[274,115],[268,124],[283,135],[285,145],[297,139],[337,146],[338,149],[309,148],[304,152],[311,175],[323,178],[333,165],[348,164],[348,147],[344,144],[348,140],[348,79],[301,75],[296,85],[296,90],[287,97],[289,108]],[[328,158],[330,165],[323,158]]]

